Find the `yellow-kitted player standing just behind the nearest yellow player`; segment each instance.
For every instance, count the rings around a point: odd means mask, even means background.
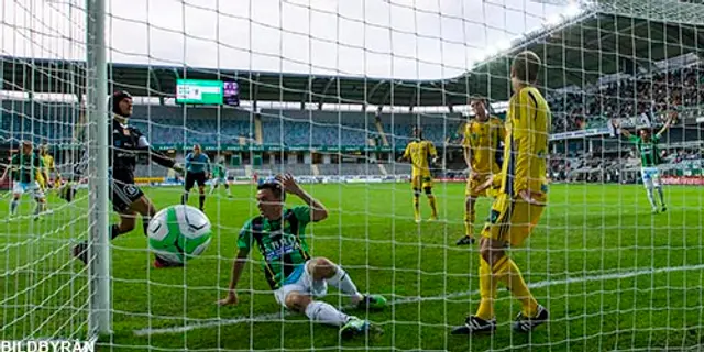
[[[477,188],[498,174],[503,154],[499,144],[505,138],[504,123],[487,113],[484,99],[472,99],[470,105],[475,117],[468,121],[462,139],[464,161],[470,173],[464,191],[464,237],[458,240],[458,245],[474,243],[476,199],[495,195],[493,188],[482,191],[477,191]]]

